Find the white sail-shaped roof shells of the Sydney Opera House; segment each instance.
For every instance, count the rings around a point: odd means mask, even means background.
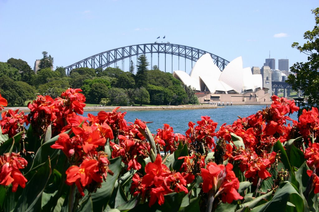
[[[183,71],[174,71],[173,76],[197,91],[209,90],[211,93],[243,93],[248,90],[255,91],[263,85],[260,74],[253,75],[249,67],[243,68],[241,57],[232,60],[221,72],[208,53],[198,59],[190,75]]]

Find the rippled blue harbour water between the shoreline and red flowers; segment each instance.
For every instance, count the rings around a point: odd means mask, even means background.
[[[189,121],[196,123],[196,121],[201,120],[201,116],[210,116],[220,127],[223,123],[232,124],[238,119],[237,116],[247,117],[265,107],[266,105],[233,105],[215,109],[127,111],[125,120],[134,122],[138,118],[143,121],[150,121],[152,123],[148,123],[147,126],[152,133],[156,133],[156,130],[166,123],[173,127],[175,133],[185,134]],[[118,111],[121,111],[121,109]],[[98,114],[97,111],[93,111],[84,112],[83,115],[87,116],[87,113]],[[290,117],[297,120],[297,113],[291,114]]]

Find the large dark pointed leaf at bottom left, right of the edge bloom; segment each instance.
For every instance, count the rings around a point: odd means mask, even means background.
[[[27,182],[14,209],[15,212],[41,211],[42,193],[50,175],[51,165],[50,160],[48,160]]]

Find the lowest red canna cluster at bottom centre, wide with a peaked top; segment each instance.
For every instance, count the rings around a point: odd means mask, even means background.
[[[137,173],[133,175],[131,192],[134,196],[140,194],[143,200],[147,198],[149,207],[156,201],[162,205],[166,194],[182,191],[188,193],[186,180],[181,173],[170,171],[166,165],[162,164],[159,154],[154,163],[146,164],[145,173],[142,178]]]

